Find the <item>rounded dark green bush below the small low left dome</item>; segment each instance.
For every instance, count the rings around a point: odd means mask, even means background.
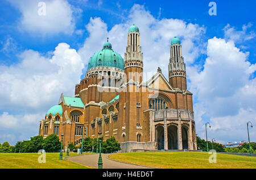
[[[57,152],[60,151],[61,142],[59,137],[55,134],[51,134],[44,139],[43,149],[46,152]]]

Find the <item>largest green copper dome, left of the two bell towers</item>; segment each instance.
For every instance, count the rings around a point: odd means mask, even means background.
[[[125,62],[121,55],[112,50],[112,44],[106,42],[101,51],[94,53],[94,55],[90,57],[88,70],[97,66],[115,67],[123,70]]]

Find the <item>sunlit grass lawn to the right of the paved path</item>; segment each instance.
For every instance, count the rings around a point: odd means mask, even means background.
[[[256,168],[256,157],[218,154],[217,162],[209,163],[206,152],[137,152],[118,153],[109,156],[113,160],[155,168]]]

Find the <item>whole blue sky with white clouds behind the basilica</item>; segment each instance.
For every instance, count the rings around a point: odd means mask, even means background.
[[[0,143],[38,135],[39,120],[73,96],[89,57],[106,37],[124,55],[127,31],[141,32],[144,72],[168,77],[170,41],[181,40],[196,133],[219,143],[256,141],[255,1],[2,0]],[[45,7],[45,9],[44,9]],[[145,76],[144,81],[150,78]]]

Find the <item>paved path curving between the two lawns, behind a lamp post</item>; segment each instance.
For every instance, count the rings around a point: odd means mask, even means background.
[[[123,162],[113,161],[108,158],[110,154],[101,154],[104,169],[152,169],[146,166],[126,164]],[[65,157],[67,160],[88,166],[98,168],[99,154],[85,154],[80,156]]]

